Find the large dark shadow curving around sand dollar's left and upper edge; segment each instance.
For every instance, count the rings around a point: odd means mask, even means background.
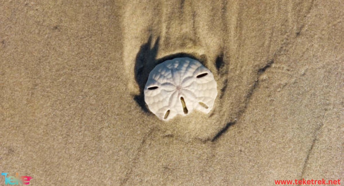
[[[142,108],[144,112],[149,112],[146,103],[144,102],[144,86],[146,85],[149,73],[153,70],[155,66],[157,66],[159,63],[162,63],[166,60],[174,59],[174,58],[180,58],[180,57],[189,57],[192,59],[196,59],[200,61],[203,65],[206,61],[205,55],[201,55],[199,57],[195,57],[190,54],[186,53],[177,53],[165,56],[163,58],[157,59],[157,53],[159,49],[159,40],[158,37],[157,40],[155,40],[153,47],[152,46],[152,36],[148,38],[147,43],[144,43],[141,45],[139,52],[136,55],[135,59],[135,67],[134,67],[134,74],[135,74],[135,81],[139,86],[140,94],[134,96],[134,100],[137,102],[137,104]]]

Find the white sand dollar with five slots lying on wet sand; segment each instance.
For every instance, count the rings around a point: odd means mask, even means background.
[[[157,65],[144,88],[149,110],[162,120],[187,115],[194,109],[209,113],[217,96],[210,70],[197,60],[174,58]]]

